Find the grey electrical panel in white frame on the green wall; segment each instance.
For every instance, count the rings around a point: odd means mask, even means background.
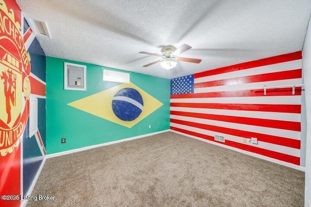
[[[64,89],[86,91],[86,65],[64,64]]]

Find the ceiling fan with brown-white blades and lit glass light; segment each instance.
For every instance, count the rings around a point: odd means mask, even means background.
[[[201,63],[202,60],[200,59],[178,57],[179,54],[187,51],[190,48],[191,46],[184,44],[177,49],[174,48],[173,46],[163,47],[161,50],[162,54],[156,54],[156,53],[150,53],[150,52],[139,52],[139,53],[146,54],[146,55],[153,55],[153,56],[157,56],[161,58],[160,60],[157,60],[150,64],[145,64],[143,65],[143,67],[148,67],[150,65],[160,63],[163,68],[170,70],[176,66],[177,61],[196,63],[196,64]]]

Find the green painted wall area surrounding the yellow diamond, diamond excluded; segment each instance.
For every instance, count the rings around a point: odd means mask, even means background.
[[[64,62],[86,65],[86,91],[64,90]],[[121,83],[104,81],[103,67],[47,57],[47,154],[107,143],[170,128],[170,80],[131,72],[131,82],[163,105],[128,128],[67,105]],[[120,71],[120,70],[117,70]],[[151,125],[151,128],[149,128]],[[66,143],[61,143],[66,138]]]

